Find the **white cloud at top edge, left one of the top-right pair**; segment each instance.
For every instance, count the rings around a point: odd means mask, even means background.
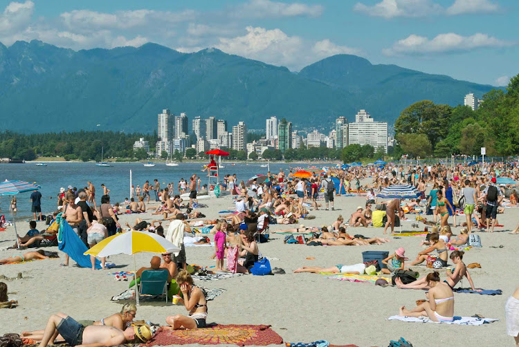
[[[437,15],[444,8],[431,0],[382,0],[374,6],[356,3],[354,10],[364,12],[372,17],[425,17]]]

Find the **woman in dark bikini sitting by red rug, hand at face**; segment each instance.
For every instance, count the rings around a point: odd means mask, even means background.
[[[188,310],[189,316],[174,315],[166,317],[166,323],[170,324],[170,329],[198,329],[206,328],[207,319],[207,301],[202,290],[194,285],[193,278],[186,270],[181,270],[176,276],[176,283],[180,286],[183,299],[179,299],[179,303],[183,303],[185,309]]]

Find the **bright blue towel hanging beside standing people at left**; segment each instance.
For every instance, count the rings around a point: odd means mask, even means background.
[[[62,218],[62,214],[56,216],[56,221],[60,224],[60,231],[57,233],[57,247],[60,251],[69,254],[80,268],[92,268],[90,256],[84,255],[84,252],[89,249],[81,241],[80,236],[75,234],[69,223]],[[95,259],[95,268],[101,268],[99,259]]]

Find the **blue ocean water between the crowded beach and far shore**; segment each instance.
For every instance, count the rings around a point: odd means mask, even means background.
[[[130,187],[130,170],[132,174],[132,182],[135,187],[139,185],[143,187],[146,180],[150,183],[156,178],[161,183],[161,187],[169,182],[174,182],[174,193],[178,193],[179,180],[189,180],[193,173],[200,176],[201,185],[208,183],[207,173],[202,172],[202,163],[189,162],[179,163],[178,167],[167,167],[164,163],[157,163],[154,167],[144,167],[142,163],[113,163],[111,167],[97,167],[94,163],[79,162],[48,162],[46,167],[37,167],[35,163],[26,164],[1,164],[0,180],[25,180],[27,182],[35,182],[42,186],[39,191],[42,193],[42,212],[51,214],[57,207],[57,194],[60,187],[66,189],[71,185],[78,189],[86,186],[86,182],[91,181],[95,186],[95,201],[100,204],[102,187],[104,184],[110,189],[111,203],[124,201],[129,198]],[[225,166],[220,169],[220,176],[236,173],[238,182],[248,180],[252,176],[258,174],[266,174],[267,168],[260,167],[263,162],[244,163],[237,162],[234,166],[231,162],[222,162]],[[291,163],[292,166],[302,166],[301,164]],[[277,173],[280,169],[284,169],[288,174],[289,164],[271,164],[271,172]],[[26,221],[32,216],[30,209],[30,194],[17,194],[18,212],[15,216],[17,221]],[[150,201],[154,199],[154,194]],[[0,196],[0,207],[2,214],[6,215],[8,220],[12,219],[9,212],[9,196]]]

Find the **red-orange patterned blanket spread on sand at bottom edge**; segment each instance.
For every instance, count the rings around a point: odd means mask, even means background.
[[[282,344],[283,339],[271,326],[216,325],[193,330],[164,330],[159,328],[154,337],[141,346],[169,346],[185,344],[235,344],[237,346],[267,346]]]

